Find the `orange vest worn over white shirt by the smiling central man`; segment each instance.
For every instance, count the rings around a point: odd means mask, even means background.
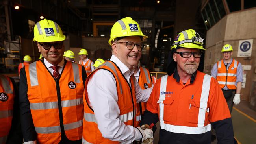
[[[121,70],[112,61],[106,61],[100,65],[96,70],[94,70],[85,81],[85,98],[84,103],[84,118],[83,118],[83,144],[119,144],[120,142],[111,141],[109,139],[103,138],[100,130],[98,129],[98,124],[95,119],[93,109],[89,107],[89,98],[87,92],[87,85],[89,79],[95,74],[99,69],[108,70],[113,74],[116,80],[117,96],[120,109],[119,119],[125,125],[134,126],[136,122],[135,109],[136,109],[136,96],[135,96],[135,82],[136,79],[134,75],[130,77],[130,82],[132,87],[126,81]]]

